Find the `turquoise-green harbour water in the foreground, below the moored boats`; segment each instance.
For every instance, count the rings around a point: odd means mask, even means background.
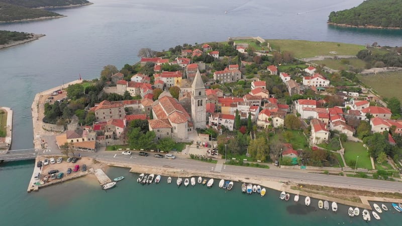
[[[280,192],[270,189],[264,197],[246,195],[239,183],[227,192],[217,184],[211,189],[198,184],[177,188],[175,179],[167,184],[166,177],[160,184],[140,185],[138,174],[127,168],[107,171],[111,178],[126,177],[108,191],[100,189],[96,179],[84,177],[27,193],[33,165],[24,161],[0,168],[0,181],[9,181],[0,184],[0,225],[367,225],[361,216],[347,216],[343,205],[333,213],[318,209],[317,200],[306,207],[304,197],[299,203],[281,201]],[[372,217],[369,225],[402,219],[392,211],[380,216],[380,221]]]

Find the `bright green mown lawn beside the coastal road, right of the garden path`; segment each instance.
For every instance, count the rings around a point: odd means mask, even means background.
[[[356,161],[357,156],[357,167],[356,168],[365,168],[365,169],[373,169],[371,167],[370,154],[367,152],[367,149],[363,147],[363,143],[360,142],[342,142],[343,147],[345,148],[345,161],[346,164],[349,164],[349,161]],[[355,166],[349,166],[354,168]]]

